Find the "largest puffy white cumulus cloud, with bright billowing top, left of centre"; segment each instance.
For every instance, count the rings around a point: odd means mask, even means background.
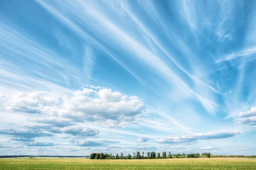
[[[63,109],[59,113],[61,116],[78,121],[103,122],[101,125],[110,127],[134,123],[134,117],[142,113],[144,107],[139,97],[126,96],[107,88],[84,88],[63,100]]]

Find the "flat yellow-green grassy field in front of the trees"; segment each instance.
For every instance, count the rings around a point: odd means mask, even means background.
[[[0,159],[0,170],[256,170],[256,159],[90,160],[84,158],[17,158]]]

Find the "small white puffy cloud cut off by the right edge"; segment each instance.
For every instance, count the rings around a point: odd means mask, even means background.
[[[256,108],[250,108],[246,112],[240,112],[239,118],[234,119],[237,124],[256,125]]]

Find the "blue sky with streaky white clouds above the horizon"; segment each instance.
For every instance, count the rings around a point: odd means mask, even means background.
[[[0,1],[0,155],[255,154],[255,9]]]

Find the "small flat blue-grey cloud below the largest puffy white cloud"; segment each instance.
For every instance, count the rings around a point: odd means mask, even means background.
[[[81,136],[81,137],[89,137],[89,136],[99,135],[98,130],[89,128],[89,127],[81,127],[81,126],[64,127],[61,131],[64,133],[71,134],[73,136]]]

